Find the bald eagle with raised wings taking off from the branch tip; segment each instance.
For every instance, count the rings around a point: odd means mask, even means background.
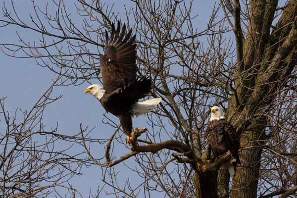
[[[105,31],[104,55],[100,54],[103,87],[91,85],[85,93],[90,93],[99,99],[106,112],[119,118],[123,131],[127,135],[127,142],[130,143],[130,137],[133,135],[132,116],[148,113],[162,99],[138,101],[149,94],[151,80],[136,75],[136,44],[133,44],[136,35],[130,39],[132,29],[126,36],[125,33],[124,24],[120,34],[119,22],[116,30],[112,23],[109,39]]]

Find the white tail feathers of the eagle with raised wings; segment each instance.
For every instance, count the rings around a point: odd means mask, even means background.
[[[153,109],[162,99],[149,99],[146,101],[137,102],[132,106],[134,115],[139,116],[143,113],[148,113]]]

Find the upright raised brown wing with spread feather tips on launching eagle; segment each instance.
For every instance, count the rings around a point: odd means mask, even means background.
[[[100,55],[100,70],[106,94],[123,86],[125,81],[130,84],[136,78],[136,44],[133,44],[136,35],[130,39],[132,29],[124,38],[125,33],[124,24],[120,34],[120,23],[116,30],[112,24],[109,39],[106,32],[104,54]]]

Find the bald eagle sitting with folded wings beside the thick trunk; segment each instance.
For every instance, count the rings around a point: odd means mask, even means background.
[[[239,140],[233,126],[225,120],[224,112],[220,107],[211,108],[209,125],[206,129],[206,139],[213,152],[218,157],[230,150],[236,162],[226,162],[230,176],[233,178],[236,173],[236,166],[240,164],[238,150],[240,148]]]

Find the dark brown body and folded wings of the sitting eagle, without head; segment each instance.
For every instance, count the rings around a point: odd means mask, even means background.
[[[239,140],[235,129],[229,122],[225,119],[212,120],[206,129],[205,135],[215,156],[230,150],[237,163],[240,163],[238,154],[240,148]]]

